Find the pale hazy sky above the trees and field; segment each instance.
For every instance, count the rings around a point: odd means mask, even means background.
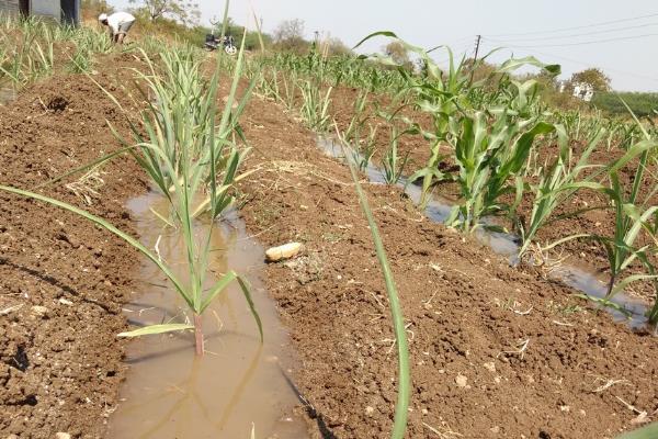
[[[202,24],[224,13],[222,0],[196,1]],[[127,2],[109,3],[121,8]],[[657,0],[232,0],[230,16],[253,27],[251,5],[265,32],[283,20],[302,19],[307,38],[319,31],[353,46],[372,32],[387,30],[418,46],[447,44],[469,54],[480,34],[480,55],[509,47],[494,60],[511,52],[517,57],[534,55],[560,64],[563,78],[600,67],[616,90],[658,91]],[[384,44],[373,42],[365,52]],[[434,58],[442,61],[445,56]]]

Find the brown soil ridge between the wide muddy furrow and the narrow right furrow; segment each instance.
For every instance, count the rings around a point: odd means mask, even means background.
[[[243,125],[260,169],[242,187],[247,223],[266,245],[305,245],[266,283],[302,358],[314,437],[386,437],[394,335],[349,172],[270,102],[253,100]],[[398,190],[366,191],[408,325],[408,437],[611,438],[656,418],[655,337],[429,222]]]

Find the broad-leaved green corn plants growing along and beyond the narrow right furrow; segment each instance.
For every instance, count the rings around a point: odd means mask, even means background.
[[[396,37],[383,32],[364,41],[382,35]],[[379,70],[387,76],[397,70],[398,79],[387,81],[385,90],[393,95],[393,103],[386,111],[368,101],[368,91],[382,89],[374,83],[363,87],[351,121],[341,127],[341,137],[351,143],[358,167],[364,170],[375,155],[377,131],[388,131],[388,146],[381,154],[384,180],[396,184],[408,169],[408,184],[421,187],[421,209],[441,183],[456,184],[458,200],[449,225],[464,233],[511,229],[520,240],[521,260],[544,258],[547,250],[575,239],[598,243],[608,256],[610,274],[602,303],[612,305],[613,295],[635,282],[642,283],[657,296],[647,316],[651,324],[658,324],[655,126],[639,120],[628,123],[546,108],[540,83],[520,79],[514,71],[534,67],[544,75],[557,75],[559,66],[544,65],[533,57],[510,59],[474,80],[475,68],[488,55],[474,64],[464,58],[455,60],[445,48],[449,65],[444,69],[426,50],[398,43],[418,57],[422,68],[410,71],[381,55],[364,60],[363,71],[375,68],[372,61],[376,60],[386,66]],[[314,53],[305,58],[275,55],[259,61],[257,90],[286,110],[296,111],[310,128],[325,132],[332,120],[333,87],[341,81],[351,87],[355,83],[343,77],[337,80],[332,66],[342,64],[349,71],[352,63],[341,57],[327,60]],[[421,124],[420,117],[415,121],[419,113],[431,122]],[[409,169],[408,151],[400,154],[399,140],[408,134],[422,135],[429,147],[427,161],[416,169]],[[613,150],[613,158],[592,161],[592,154],[602,148]],[[565,213],[583,191],[604,200],[601,206],[587,210],[613,215],[613,233],[582,230],[541,243],[543,228],[587,211]],[[527,205],[530,212],[524,211]]]

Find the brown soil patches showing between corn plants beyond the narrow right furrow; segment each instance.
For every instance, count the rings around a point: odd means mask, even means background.
[[[338,87],[332,91],[331,112],[342,130],[345,130],[349,126],[354,115],[354,102],[359,93],[360,91],[358,89],[347,87]],[[371,103],[376,102],[376,106],[385,111],[394,110],[394,108],[390,106],[390,99],[386,95],[371,93],[368,94],[368,100]],[[365,115],[371,115],[368,119],[368,124],[374,125],[382,123],[381,117],[376,117],[372,114],[372,108],[368,106],[368,109],[370,110],[365,112]],[[421,124],[421,126],[426,128],[431,126],[431,120],[428,113],[416,111],[412,106],[406,106],[402,110],[402,114],[409,120]],[[386,154],[389,147],[388,136],[389,133],[387,130],[381,126],[381,128],[377,131],[376,151],[373,156],[375,162],[381,162],[382,157]],[[577,160],[587,147],[587,143],[585,140],[572,142],[571,146],[574,148],[574,160]],[[418,169],[424,167],[427,160],[429,159],[429,143],[420,135],[402,136],[399,140],[398,147],[400,157],[408,155],[409,158],[409,162],[405,169],[405,173],[407,176],[410,176]],[[556,145],[537,146],[537,164],[553,162],[557,153]],[[456,168],[454,166],[451,149],[447,146],[444,147],[443,154],[445,155],[445,158],[440,164],[441,169],[452,170],[454,172]],[[614,146],[609,150],[605,145],[605,139],[602,139],[592,153],[589,162],[595,165],[606,165],[622,157],[623,154],[623,150]],[[633,185],[637,166],[638,160],[633,160],[620,172],[619,177],[622,188],[625,188],[627,192],[631,191]],[[656,169],[655,165],[649,166],[649,169],[645,175],[643,185],[639,188],[639,200],[640,202],[645,202],[647,206],[658,203],[658,194],[654,194],[651,199],[647,200],[648,194],[653,191],[656,183],[655,176],[657,171],[658,169]],[[537,183],[538,179],[530,178],[529,181],[532,183]],[[606,182],[603,181],[603,183]],[[461,196],[458,184],[451,181],[443,181],[436,184],[433,188],[433,193],[449,200],[457,200]],[[513,195],[510,194],[509,196],[504,198],[503,201],[510,204],[513,203]],[[525,226],[527,226],[527,221],[530,221],[533,201],[533,193],[527,191],[524,193],[523,200],[518,209],[520,219],[525,223]],[[568,203],[559,205],[555,210],[553,217],[560,219],[553,222],[549,226],[540,228],[535,241],[542,246],[545,246],[551,243],[555,243],[558,239],[583,233],[612,237],[615,229],[615,216],[611,209],[604,209],[608,205],[609,200],[601,193],[591,190],[580,190],[569,200]],[[574,215],[574,213],[578,211],[581,212],[577,215]],[[507,218],[499,218],[499,223],[504,225],[513,233],[518,228],[517,224],[513,224]],[[646,241],[646,237],[644,236],[640,236],[638,238],[638,243],[636,243],[638,247],[642,247],[646,244],[649,243]],[[546,256],[555,260],[563,260],[566,263],[590,267],[592,270],[601,273],[606,273],[609,271],[609,262],[605,249],[602,245],[598,244],[593,239],[568,240],[558,246],[556,249],[552,250]],[[658,259],[655,255],[649,255],[649,258],[655,263],[658,263]],[[639,262],[636,262],[633,267],[631,267],[631,269],[633,272],[643,271],[643,267]],[[654,302],[656,294],[655,289],[648,282],[633,283],[626,288],[626,292],[632,295],[643,297],[650,303]]]

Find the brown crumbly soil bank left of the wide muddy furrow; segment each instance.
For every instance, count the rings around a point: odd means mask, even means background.
[[[115,64],[120,56],[110,58],[112,74],[94,79],[122,99]],[[0,183],[34,190],[111,153],[117,142],[106,120],[125,132],[115,105],[84,76],[33,86],[0,106]],[[100,180],[67,188],[76,176],[38,191],[132,233],[124,205],[145,190],[135,176],[132,161],[116,159],[90,176]],[[0,437],[102,436],[124,378],[115,335],[126,326],[121,305],[137,261],[88,221],[0,192]]]

